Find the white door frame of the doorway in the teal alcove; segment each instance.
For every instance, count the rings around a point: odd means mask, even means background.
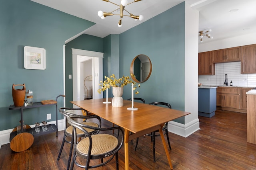
[[[82,62],[88,59],[92,59],[92,96],[94,99],[103,98],[103,94],[97,92],[103,77],[103,53],[72,49],[73,101],[84,100],[83,86],[81,86],[83,84],[81,66]]]

